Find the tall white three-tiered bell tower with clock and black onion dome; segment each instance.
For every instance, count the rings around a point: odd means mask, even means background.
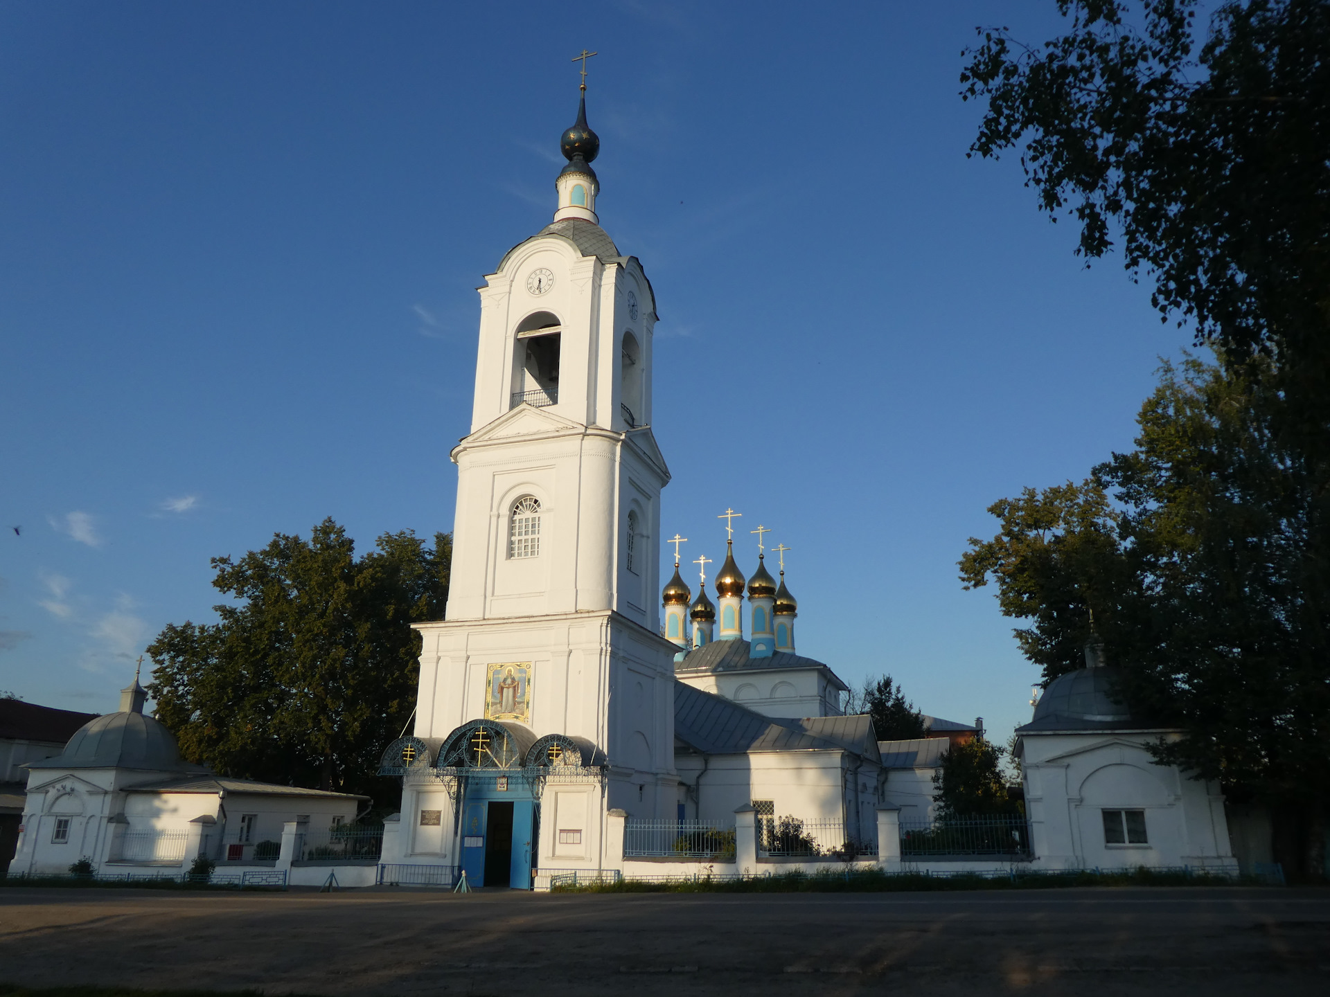
[[[552,772],[481,779],[488,788],[472,780],[455,799],[407,772],[403,819],[416,808],[411,840],[438,839],[428,848],[440,861],[466,864],[467,848],[484,847],[463,824],[483,824],[475,815],[504,800],[517,806],[515,827],[539,827],[539,864],[561,868],[600,861],[609,810],[676,812],[678,646],[661,635],[656,596],[670,479],[652,433],[656,295],[641,263],[600,227],[600,138],[587,122],[585,82],[560,150],[553,219],[479,288],[471,427],[451,451],[448,606],[444,619],[416,625],[412,758],[430,754],[428,764],[450,771],[525,771],[567,752],[580,767],[560,768],[563,783]],[[503,750],[468,755],[472,739]],[[528,804],[545,818],[532,824]],[[436,824],[420,815],[435,822],[438,812],[451,815],[452,831],[422,831]]]

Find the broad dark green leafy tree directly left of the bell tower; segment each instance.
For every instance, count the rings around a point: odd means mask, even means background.
[[[251,779],[386,799],[379,755],[415,705],[420,637],[442,619],[451,537],[384,533],[355,556],[332,520],[275,534],[213,585],[217,623],[172,623],[148,649],[157,717],[193,762]]]

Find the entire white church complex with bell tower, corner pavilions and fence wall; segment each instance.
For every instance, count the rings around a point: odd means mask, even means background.
[[[563,134],[553,221],[480,288],[471,429],[451,455],[450,601],[446,619],[416,625],[414,732],[387,746],[379,770],[402,779],[402,808],[382,853],[338,869],[339,881],[452,884],[464,873],[477,887],[531,888],[556,872],[818,861],[1233,867],[1218,788],[1153,764],[1148,743],[1178,732],[1113,699],[1093,646],[1016,731],[1028,824],[999,828],[994,848],[991,833],[967,844],[930,831],[940,755],[982,736],[980,723],[928,718],[930,738],[879,742],[868,717],[843,715],[846,683],[795,650],[787,548],[773,548],[773,577],[765,528],[753,530],[749,577],[726,544],[714,600],[705,574],[696,594],[684,581],[676,544],[657,597],[670,472],[652,432],[656,296],[637,258],[600,227],[598,146],[584,84]],[[730,537],[737,514],[720,517]],[[697,564],[705,572],[706,558]],[[358,839],[342,832],[367,800],[189,764],[144,714],[145,697],[136,677],[118,713],[23,766],[11,872],[86,857],[132,875],[211,856],[254,867],[237,875],[315,885],[330,873],[306,856],[348,853]],[[778,831],[786,816],[798,824],[789,833]]]

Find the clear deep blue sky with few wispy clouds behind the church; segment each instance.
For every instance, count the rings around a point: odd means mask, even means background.
[[[658,298],[662,532],[721,557],[738,509],[745,570],[759,522],[793,549],[802,653],[1028,718],[956,560],[1127,448],[1186,335],[966,158],[992,5],[569,11],[0,3],[0,690],[116,709],[211,618],[209,557],[277,530],[451,529],[473,288],[549,221],[587,47],[597,209]]]

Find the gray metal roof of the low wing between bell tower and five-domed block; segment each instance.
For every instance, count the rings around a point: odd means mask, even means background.
[[[867,717],[763,717],[725,697],[674,682],[674,736],[708,755],[851,751],[876,760],[871,731]]]

